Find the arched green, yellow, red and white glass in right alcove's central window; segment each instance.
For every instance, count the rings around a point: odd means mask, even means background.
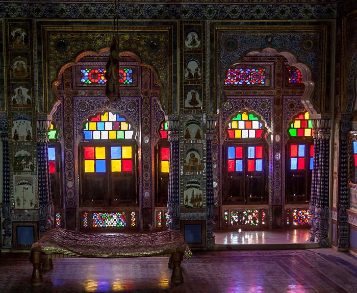
[[[253,114],[243,112],[238,114],[228,124],[228,137],[230,138],[256,138],[263,135],[263,124]]]

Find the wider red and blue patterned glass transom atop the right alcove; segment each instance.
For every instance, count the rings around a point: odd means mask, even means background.
[[[264,68],[230,68],[227,72],[225,84],[234,85],[259,85],[265,84]]]

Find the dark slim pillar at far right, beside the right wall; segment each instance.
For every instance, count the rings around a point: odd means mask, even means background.
[[[342,118],[342,117],[341,117]],[[344,119],[343,119],[344,118]],[[348,250],[348,139],[347,132],[350,130],[350,115],[346,115],[340,121],[340,170],[339,170],[339,180],[340,180],[340,192],[338,194],[338,214],[337,214],[337,224],[338,224],[338,239],[337,248],[340,251]]]

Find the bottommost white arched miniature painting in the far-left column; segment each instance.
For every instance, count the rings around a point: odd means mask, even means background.
[[[34,176],[14,176],[15,209],[38,208]]]

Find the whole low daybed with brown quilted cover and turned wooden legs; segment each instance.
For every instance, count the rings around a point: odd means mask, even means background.
[[[42,270],[52,270],[52,258],[96,257],[129,258],[167,256],[172,268],[171,281],[184,281],[181,261],[192,255],[184,237],[177,231],[162,231],[150,234],[106,235],[74,232],[61,228],[47,231],[31,247],[33,264],[31,283],[43,282]]]

